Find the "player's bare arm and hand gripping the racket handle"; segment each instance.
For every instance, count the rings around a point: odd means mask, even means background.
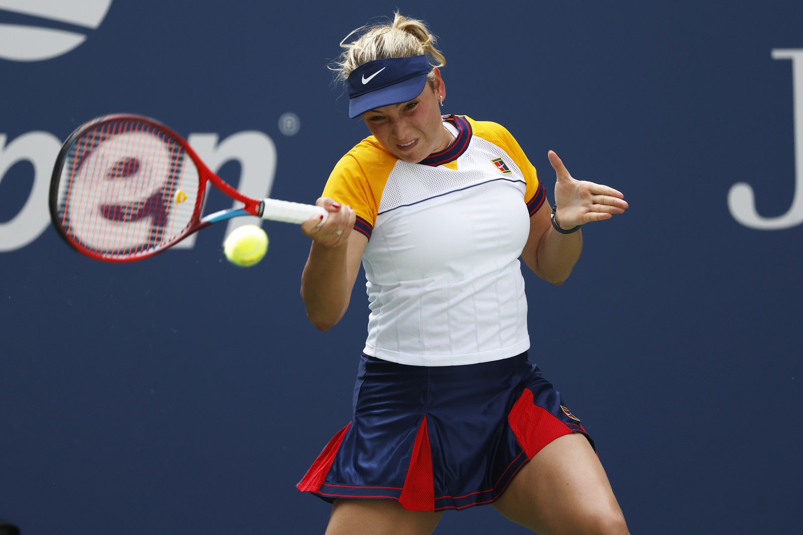
[[[309,321],[325,331],[340,321],[349,308],[368,238],[353,232],[355,214],[350,206],[340,206],[330,198],[320,198],[316,204],[324,206],[329,217],[320,227],[315,219],[301,226],[304,234],[312,238],[301,276],[301,298]]]

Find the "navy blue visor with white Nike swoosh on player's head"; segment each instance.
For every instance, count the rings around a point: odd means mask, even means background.
[[[349,75],[349,117],[369,109],[413,100],[426,85],[432,66],[426,55],[374,59]]]

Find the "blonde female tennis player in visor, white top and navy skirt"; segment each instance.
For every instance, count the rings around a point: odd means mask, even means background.
[[[331,328],[362,263],[371,312],[353,419],[298,488],[333,504],[328,535],[432,533],[479,504],[542,534],[628,533],[583,423],[528,359],[519,263],[562,284],[581,225],[622,214],[623,195],[550,151],[550,210],[506,129],[442,116],[446,61],[423,22],[396,14],[341,46],[349,116],[371,136],[332,171],[328,219],[302,225],[301,294]]]

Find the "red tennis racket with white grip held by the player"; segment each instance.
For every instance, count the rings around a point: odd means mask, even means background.
[[[240,208],[202,216],[206,186]],[[56,158],[50,212],[76,251],[106,262],[132,262],[165,251],[212,223],[256,215],[304,223],[320,206],[250,198],[223,182],[184,138],[145,116],[98,117],[76,129]]]

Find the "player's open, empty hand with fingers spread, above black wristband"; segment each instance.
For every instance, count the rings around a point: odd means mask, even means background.
[[[557,154],[550,150],[549,163],[555,169],[556,223],[568,231],[577,225],[609,219],[622,214],[628,207],[624,195],[601,184],[575,180]]]

